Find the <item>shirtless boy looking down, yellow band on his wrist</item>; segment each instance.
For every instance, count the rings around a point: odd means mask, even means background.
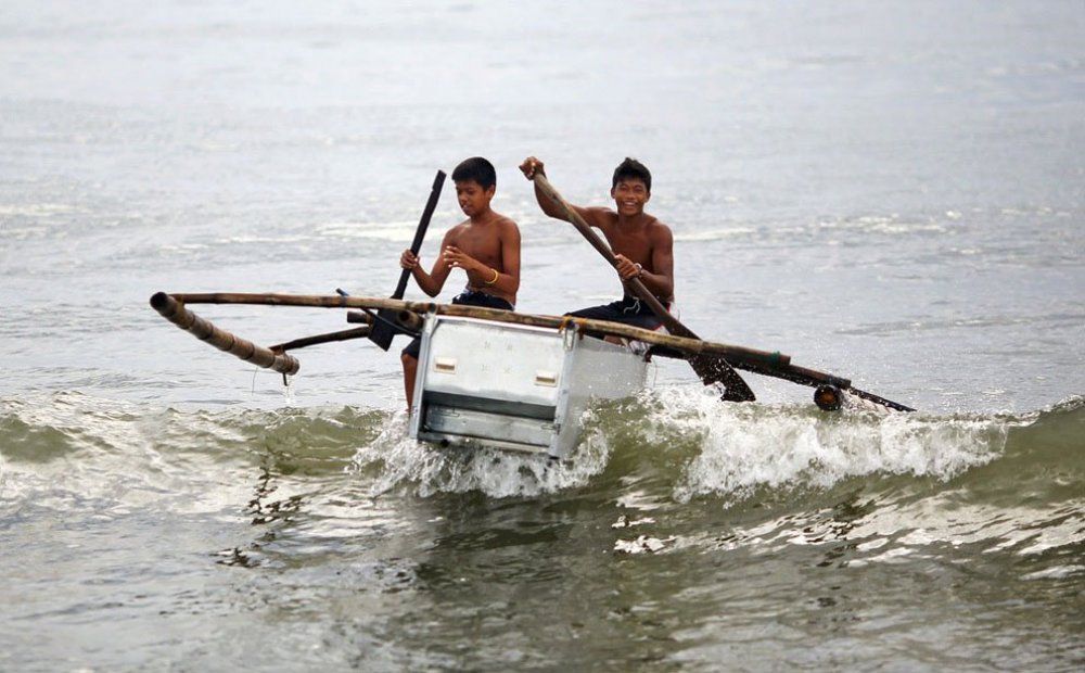
[[[437,296],[454,268],[467,274],[467,287],[454,304],[513,310],[520,290],[520,229],[516,224],[489,207],[497,191],[497,172],[481,156],[464,160],[452,172],[460,209],[468,216],[445,233],[441,253],[426,274],[419,258],[405,250],[399,266],[410,269],[414,282],[430,296]],[[414,399],[414,376],[421,339],[403,351],[404,388],[407,408]]]

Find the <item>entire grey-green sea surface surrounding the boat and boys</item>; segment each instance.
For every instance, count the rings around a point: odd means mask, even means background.
[[[1083,28],[1060,2],[5,8],[0,669],[1077,670]],[[684,322],[919,411],[758,378],[723,405],[664,361],[571,464],[442,452],[406,436],[394,354],[301,351],[283,389],[146,305],[386,295],[473,154],[522,310],[615,283],[519,161],[605,204],[638,156]],[[423,258],[457,216],[447,190]],[[264,344],[344,325],[201,313]]]

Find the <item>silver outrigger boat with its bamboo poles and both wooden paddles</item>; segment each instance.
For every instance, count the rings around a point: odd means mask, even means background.
[[[610,263],[610,247],[562,199],[546,176],[532,178],[565,219]],[[441,194],[445,174],[434,179],[411,252],[418,254]],[[886,409],[914,409],[879,397],[852,382],[791,364],[778,352],[703,341],[672,316],[639,279],[626,281],[669,333],[618,322],[542,316],[477,306],[404,301],[410,271],[404,270],[392,299],[299,294],[155,293],[151,306],[181,329],[259,367],[286,377],[301,365],[290,352],[320,343],[369,339],[387,351],[396,334],[421,334],[410,435],[442,446],[512,449],[567,458],[579,440],[579,419],[592,399],[631,395],[644,386],[653,356],[687,360],[705,385],[723,388],[726,402],[752,402],[753,391],[736,369],[815,388],[814,402],[840,409],[850,396]],[[239,339],[187,308],[188,304],[263,304],[347,310],[360,327],[295,339],[269,347]],[[614,343],[616,342],[616,343]]]

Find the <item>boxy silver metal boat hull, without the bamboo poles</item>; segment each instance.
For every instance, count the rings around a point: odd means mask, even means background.
[[[426,315],[410,434],[442,446],[566,458],[592,399],[644,385],[648,355],[559,329]]]

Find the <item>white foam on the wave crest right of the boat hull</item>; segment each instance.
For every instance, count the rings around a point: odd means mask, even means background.
[[[794,405],[723,405],[714,395],[673,389],[651,395],[646,426],[697,437],[675,497],[743,497],[755,487],[815,485],[875,473],[948,480],[983,465],[1006,444],[990,417],[843,411]]]

